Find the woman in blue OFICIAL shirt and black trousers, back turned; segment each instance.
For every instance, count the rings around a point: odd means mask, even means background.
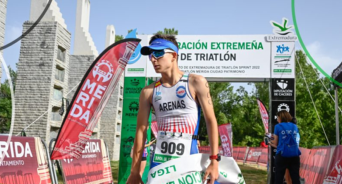
[[[292,117],[290,113],[285,110],[277,113],[278,124],[274,127],[274,140],[269,143],[271,146],[277,148],[275,157],[275,184],[282,184],[284,180],[285,170],[289,169],[291,180],[293,184],[300,184],[299,181],[299,168],[300,158],[283,157],[281,152],[283,149],[286,134],[292,134],[295,138],[299,134],[298,127],[291,123]],[[299,145],[299,144],[298,144]]]

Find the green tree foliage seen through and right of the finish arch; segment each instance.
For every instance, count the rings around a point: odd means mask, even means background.
[[[295,61],[295,116],[301,135],[300,146],[312,148],[328,145],[322,126],[330,144],[334,145],[336,144],[334,102],[324,87],[325,85],[333,96],[333,83],[327,78],[317,76],[318,70],[311,66],[302,51],[296,51]],[[308,93],[303,74],[322,124]],[[269,83],[259,82],[249,83],[249,85],[254,87],[250,93],[241,86],[234,91],[230,83],[209,83],[216,119],[219,125],[232,123],[234,146],[259,146],[263,140],[263,123],[256,99],[261,99],[266,108],[269,108]],[[339,99],[341,98],[342,94],[340,93]],[[339,124],[341,130],[341,121]],[[199,134],[208,137],[203,114],[200,119]],[[208,139],[202,142],[202,145],[207,144]]]

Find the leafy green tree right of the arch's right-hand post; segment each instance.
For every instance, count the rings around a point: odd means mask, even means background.
[[[306,55],[302,51],[296,51],[295,61],[296,118],[301,135],[300,146],[312,148],[313,146],[328,145],[322,125],[330,144],[336,144],[334,103],[323,86],[323,84],[325,84],[329,93],[333,94],[332,82],[326,78],[317,76],[316,73],[318,73],[318,70],[313,69],[307,62]],[[318,119],[310,94],[308,93],[303,74],[311,92],[312,99],[316,105],[322,125]],[[320,80],[322,80],[323,84]],[[341,98],[341,95],[339,95],[339,98]]]

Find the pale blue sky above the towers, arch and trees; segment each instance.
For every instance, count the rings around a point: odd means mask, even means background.
[[[77,1],[56,1],[72,35],[72,54]],[[124,36],[127,30],[134,28],[139,34],[152,34],[164,28],[175,28],[179,34],[190,35],[273,34],[270,20],[281,22],[282,17],[287,17],[289,24],[293,24],[290,0],[90,2],[89,32],[99,53],[105,46],[107,24],[113,24],[116,34]],[[5,44],[21,35],[22,24],[29,19],[30,0],[9,0],[7,5]],[[340,7],[342,1],[295,0],[297,23],[303,41],[328,74],[342,61],[342,37],[336,34],[342,32]],[[20,42],[4,50],[4,59],[12,68],[18,61],[19,49]]]

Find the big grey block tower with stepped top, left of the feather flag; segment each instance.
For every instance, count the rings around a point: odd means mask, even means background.
[[[30,20],[24,22],[23,32],[32,26],[46,4],[47,0],[31,0]],[[26,134],[47,142],[57,136],[63,120],[60,100],[68,93],[70,39],[53,0],[40,23],[21,40],[14,95],[15,134],[42,115]]]

